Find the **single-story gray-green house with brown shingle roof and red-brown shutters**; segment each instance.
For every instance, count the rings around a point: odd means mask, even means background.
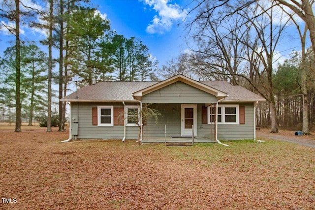
[[[144,104],[160,111],[142,125],[142,142],[191,138],[195,142],[255,139],[255,106],[265,99],[224,81],[176,75],[161,82],[99,82],[61,99],[70,103],[70,139],[137,139],[128,120]],[[125,117],[123,117],[125,116]]]

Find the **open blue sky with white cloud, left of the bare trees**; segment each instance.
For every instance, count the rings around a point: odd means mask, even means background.
[[[38,3],[42,1],[37,1]],[[187,46],[183,22],[190,0],[91,0],[100,14],[110,20],[111,30],[126,38],[139,38],[161,67],[166,61],[177,57]],[[24,0],[24,4],[34,3]],[[31,5],[30,5],[31,6]],[[43,6],[43,5],[41,5]],[[10,25],[10,23],[5,23]],[[14,23],[11,23],[14,24]],[[177,24],[182,24],[180,27]],[[1,25],[2,27],[3,25]],[[43,31],[21,26],[21,40],[39,44],[44,39]],[[39,39],[38,39],[39,38]],[[15,37],[5,28],[0,30],[0,56],[14,44]],[[42,47],[44,51],[47,47]],[[58,53],[55,54],[58,57]]]

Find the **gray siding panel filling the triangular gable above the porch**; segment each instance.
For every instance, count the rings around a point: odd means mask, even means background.
[[[142,96],[143,103],[217,103],[216,96],[194,88],[183,82],[176,82]]]

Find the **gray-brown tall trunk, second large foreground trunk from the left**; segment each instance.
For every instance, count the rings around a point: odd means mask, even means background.
[[[51,98],[52,98],[52,47],[53,47],[53,0],[49,8],[49,37],[48,37],[48,105],[47,105],[47,132],[51,132]]]

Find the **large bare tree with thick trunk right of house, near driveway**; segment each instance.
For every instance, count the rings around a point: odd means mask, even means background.
[[[228,76],[232,83],[239,78],[246,80],[252,90],[260,93],[270,104],[272,128],[278,132],[275,97],[273,93],[273,64],[277,44],[286,27],[285,22],[276,23],[275,17],[282,20],[283,12],[273,7],[270,1],[242,2],[241,7],[228,4],[199,5],[199,15],[191,24],[197,23],[195,37],[203,47],[197,55],[206,60],[201,66],[209,66],[206,72]],[[235,1],[233,1],[235,3]],[[217,11],[216,8],[220,9]],[[235,9],[236,8],[236,9]],[[235,24],[229,28],[229,24]],[[244,28],[246,26],[246,28]],[[229,29],[229,30],[227,30]],[[218,32],[220,31],[220,32]]]

